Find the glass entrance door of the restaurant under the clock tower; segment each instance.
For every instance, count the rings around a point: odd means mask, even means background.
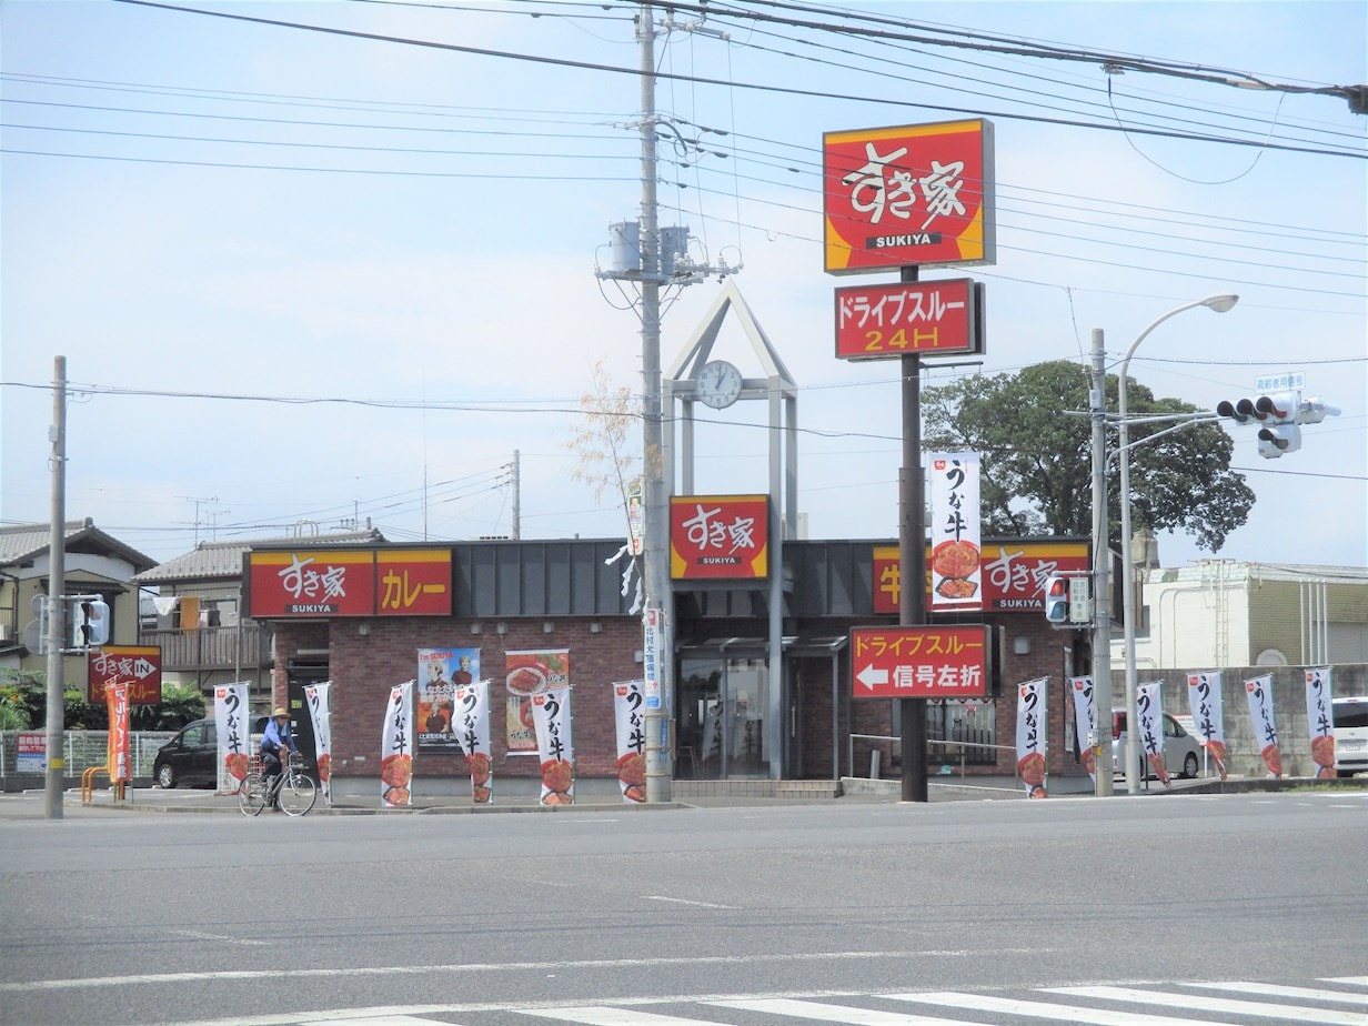
[[[679,672],[676,776],[769,778],[765,715],[769,670],[761,655],[684,653]]]

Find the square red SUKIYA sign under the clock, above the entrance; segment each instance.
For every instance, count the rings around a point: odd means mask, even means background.
[[[670,577],[769,575],[769,495],[670,497]]]

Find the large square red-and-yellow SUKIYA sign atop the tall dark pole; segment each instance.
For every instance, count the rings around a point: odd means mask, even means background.
[[[992,122],[825,133],[822,211],[829,274],[993,263]]]

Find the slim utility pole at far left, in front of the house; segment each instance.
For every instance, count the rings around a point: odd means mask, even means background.
[[[62,788],[67,772],[62,743],[66,691],[62,650],[67,646],[67,358],[59,356],[52,371],[52,525],[48,535],[48,773],[42,808],[48,819],[62,818]]]

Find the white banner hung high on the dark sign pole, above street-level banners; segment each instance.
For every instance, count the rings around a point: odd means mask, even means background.
[[[978,453],[926,457],[932,518],[932,610],[984,607]]]

